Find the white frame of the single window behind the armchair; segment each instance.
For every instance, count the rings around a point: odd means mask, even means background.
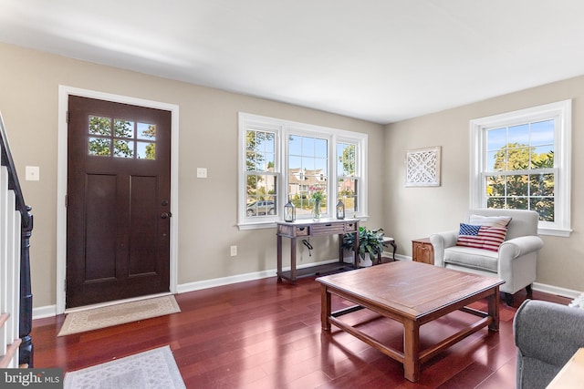
[[[470,121],[470,208],[486,208],[486,131],[528,121],[554,119],[555,221],[539,221],[538,233],[568,237],[571,230],[571,118],[572,100],[529,107]]]

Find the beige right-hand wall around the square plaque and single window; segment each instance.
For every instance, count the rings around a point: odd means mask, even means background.
[[[455,230],[469,204],[469,121],[516,109],[573,98],[572,105],[572,234],[569,238],[542,236],[545,246],[537,261],[537,282],[584,291],[584,77],[527,89],[476,104],[394,123],[386,127],[384,193],[388,233],[400,252],[412,255],[412,239],[441,230]],[[407,149],[442,146],[442,186],[405,188]]]

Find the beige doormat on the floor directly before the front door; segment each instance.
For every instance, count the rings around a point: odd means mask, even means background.
[[[152,317],[181,312],[174,296],[156,297],[139,302],[123,302],[67,314],[57,336],[85,333],[126,322],[138,322]]]

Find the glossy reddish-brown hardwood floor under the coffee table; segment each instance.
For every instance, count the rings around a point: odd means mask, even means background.
[[[320,289],[314,279],[297,285],[276,278],[242,282],[176,296],[181,313],[89,333],[58,337],[63,315],[33,322],[35,367],[78,370],[170,344],[188,388],[515,388],[515,307],[501,300],[498,333],[474,333],[422,365],[422,378],[403,378],[401,363],[333,326],[320,330]],[[570,299],[533,292],[533,299]],[[333,299],[333,308],[347,302]],[[475,308],[485,309],[485,302]],[[399,347],[401,326],[357,312],[364,328]],[[369,316],[368,316],[369,315]],[[454,312],[422,326],[422,345],[474,321]],[[370,320],[368,320],[370,319]]]

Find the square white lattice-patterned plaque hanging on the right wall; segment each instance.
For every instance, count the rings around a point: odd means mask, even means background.
[[[440,186],[440,151],[440,146],[406,151],[406,187]]]

